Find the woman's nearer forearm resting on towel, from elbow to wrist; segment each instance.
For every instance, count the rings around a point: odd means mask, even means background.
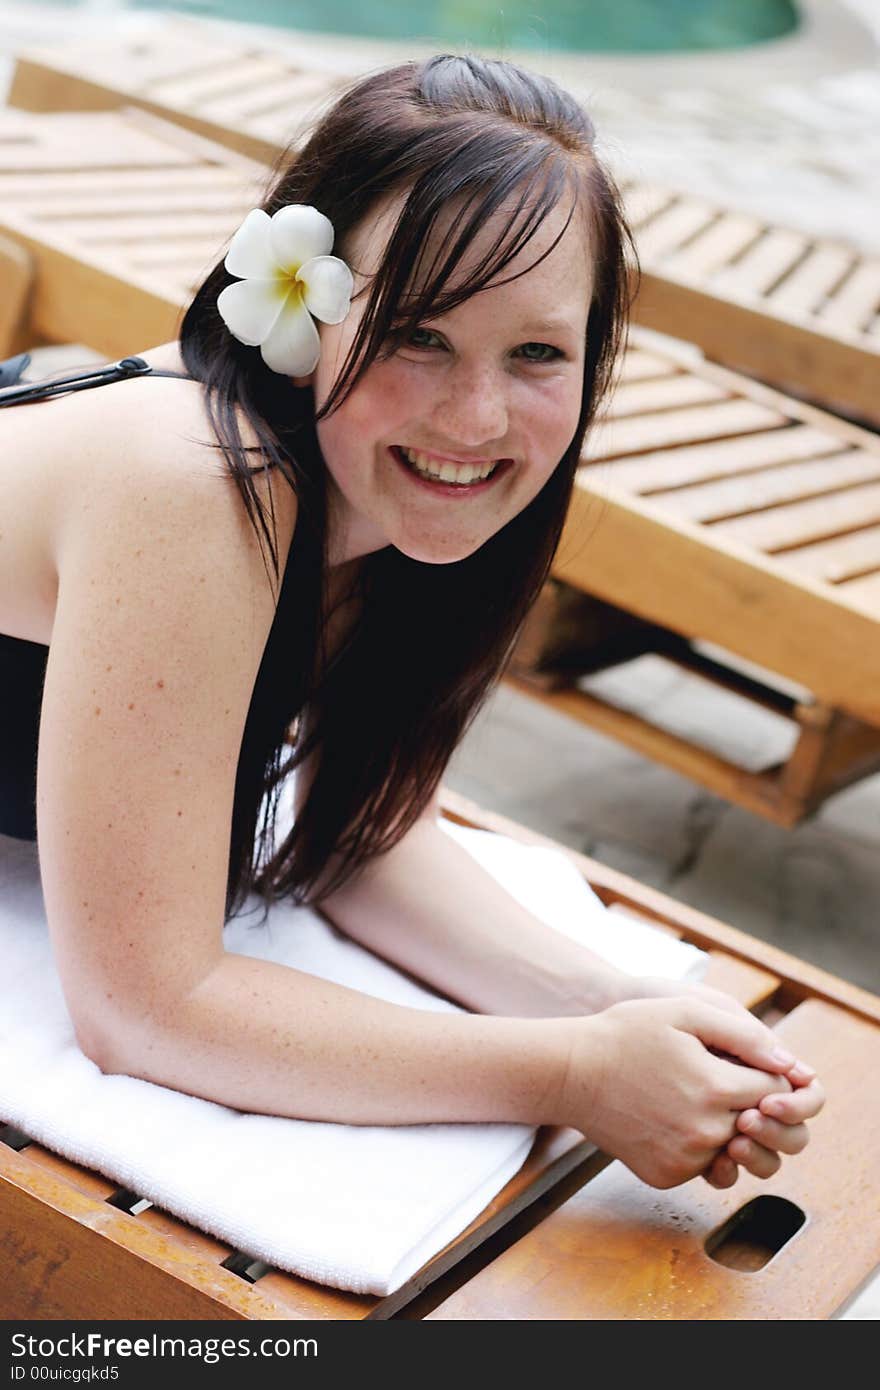
[[[569,1027],[402,1008],[227,954],[165,1017],[117,1020],[95,1059],[106,1072],[296,1119],[545,1123],[562,1119]]]

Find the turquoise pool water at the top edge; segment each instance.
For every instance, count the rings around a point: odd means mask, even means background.
[[[70,3],[70,0],[68,0]],[[90,0],[72,0],[89,7]],[[779,39],[794,0],[122,0],[285,29],[571,53],[695,53]]]

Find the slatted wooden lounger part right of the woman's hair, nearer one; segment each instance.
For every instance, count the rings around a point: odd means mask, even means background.
[[[645,343],[634,332],[588,439],[513,673],[551,708],[792,826],[880,767],[880,439]],[[646,652],[788,719],[791,753],[749,769],[578,687]]]

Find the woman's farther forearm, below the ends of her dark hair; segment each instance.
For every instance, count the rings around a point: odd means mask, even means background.
[[[534,917],[427,819],[320,909],[355,941],[481,1013],[584,1015],[627,992],[621,972]]]

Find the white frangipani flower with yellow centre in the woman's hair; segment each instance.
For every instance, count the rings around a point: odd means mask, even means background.
[[[241,278],[221,292],[217,309],[232,336],[259,348],[272,371],[314,371],[321,354],[314,318],[341,324],[350,309],[352,272],[328,254],[332,245],[332,222],[304,203],[274,217],[254,207],[232,238],[225,267]]]

